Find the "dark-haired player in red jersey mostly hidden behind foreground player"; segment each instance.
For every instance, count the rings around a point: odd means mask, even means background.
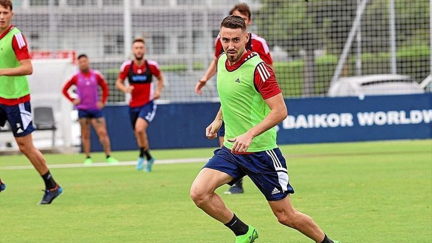
[[[246,27],[248,28],[250,24],[252,24],[251,19],[251,13],[249,6],[247,6],[246,3],[238,3],[236,4],[229,12],[229,15],[237,15],[243,18],[244,22],[246,23]],[[246,50],[250,50],[252,52],[255,52],[260,55],[261,59],[265,61],[267,64],[270,65],[271,68],[273,68],[273,59],[270,55],[270,49],[267,45],[267,42],[264,38],[249,32],[249,40],[247,41],[245,47]],[[216,41],[215,41],[215,58],[210,63],[209,67],[207,68],[207,72],[204,74],[204,76],[196,83],[195,85],[195,92],[197,94],[202,94],[202,87],[206,85],[207,81],[209,81],[215,74],[216,74],[216,61],[220,54],[223,53],[222,44],[220,42],[220,36],[217,35]],[[224,124],[222,124],[221,128],[217,132],[217,135],[219,135],[219,144],[220,146],[223,145],[223,139],[225,136],[225,127]],[[226,194],[239,194],[243,193],[243,179],[236,182],[228,191],[226,191]]]

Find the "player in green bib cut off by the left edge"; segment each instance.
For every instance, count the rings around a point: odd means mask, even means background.
[[[50,204],[63,189],[54,181],[42,153],[34,147],[34,131],[27,77],[33,72],[27,41],[11,25],[14,13],[10,0],[0,0],[0,127],[9,122],[15,140],[45,182],[39,204]],[[0,191],[5,185],[0,181]]]

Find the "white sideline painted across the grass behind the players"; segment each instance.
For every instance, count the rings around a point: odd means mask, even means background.
[[[155,164],[171,164],[171,163],[195,163],[207,162],[209,158],[187,158],[175,160],[156,160]],[[135,165],[136,161],[125,161],[117,164],[110,164],[107,162],[96,162],[91,165],[84,165],[83,163],[65,163],[65,164],[48,164],[49,168],[81,168],[81,167],[108,167],[108,166],[129,166]],[[0,170],[22,170],[34,169],[33,165],[16,165],[16,166],[0,166]]]

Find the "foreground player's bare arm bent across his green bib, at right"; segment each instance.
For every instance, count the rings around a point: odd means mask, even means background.
[[[262,122],[258,123],[245,134],[228,139],[228,141],[234,142],[232,149],[233,152],[247,151],[247,148],[254,137],[263,134],[270,128],[273,128],[287,117],[288,111],[282,93],[279,93],[264,101],[266,102],[267,106],[269,106],[270,113],[264,118]]]

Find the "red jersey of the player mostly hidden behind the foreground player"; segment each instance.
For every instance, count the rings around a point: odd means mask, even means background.
[[[271,58],[270,48],[267,45],[266,40],[263,37],[260,37],[252,32],[249,32],[249,34],[250,37],[249,37],[249,42],[246,43],[246,49],[258,53],[261,59],[263,59],[263,61],[265,61],[269,65],[272,65],[273,58]],[[217,35],[215,41],[215,57],[217,58],[222,53],[223,53],[222,43],[220,43],[220,36]]]

